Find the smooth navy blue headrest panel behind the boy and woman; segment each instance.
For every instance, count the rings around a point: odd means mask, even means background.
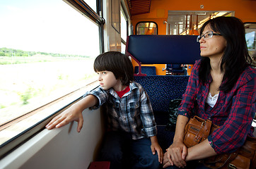
[[[194,64],[200,59],[196,35],[130,35],[126,54],[141,64]]]

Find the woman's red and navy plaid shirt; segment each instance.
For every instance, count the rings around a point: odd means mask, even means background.
[[[221,126],[209,135],[209,143],[217,154],[231,153],[242,146],[254,130],[251,124],[255,117],[256,70],[245,68],[233,89],[228,93],[220,91],[215,106],[211,108],[206,104],[206,97],[212,78],[209,75],[206,84],[199,82],[199,64],[200,61],[196,61],[193,67],[178,113],[188,118],[194,115],[208,118]]]

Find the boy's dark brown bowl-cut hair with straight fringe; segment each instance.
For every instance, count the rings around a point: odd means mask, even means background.
[[[119,51],[107,51],[100,54],[94,61],[94,71],[110,71],[123,85],[129,85],[134,80],[134,68],[128,56]]]

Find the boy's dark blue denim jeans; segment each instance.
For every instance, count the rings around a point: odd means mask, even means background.
[[[100,161],[110,161],[110,169],[158,169],[157,152],[151,151],[150,138],[132,139],[126,132],[107,132]]]

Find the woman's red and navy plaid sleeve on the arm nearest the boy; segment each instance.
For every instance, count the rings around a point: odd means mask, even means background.
[[[179,115],[185,115],[187,118],[193,116],[194,106],[197,100],[197,83],[199,82],[198,77],[199,61],[196,61],[192,68],[192,73],[187,83],[185,93],[182,95],[182,101],[178,108]]]

